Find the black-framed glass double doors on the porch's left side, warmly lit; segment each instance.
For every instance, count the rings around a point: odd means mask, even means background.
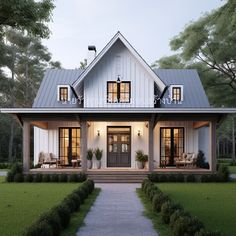
[[[62,165],[80,159],[80,128],[59,128],[59,159]]]

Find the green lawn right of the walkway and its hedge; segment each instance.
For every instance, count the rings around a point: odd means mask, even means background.
[[[158,187],[196,215],[208,229],[236,235],[236,182],[159,183]]]

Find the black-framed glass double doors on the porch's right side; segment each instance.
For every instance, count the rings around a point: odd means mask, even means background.
[[[184,152],[184,128],[161,128],[161,164],[174,166]]]

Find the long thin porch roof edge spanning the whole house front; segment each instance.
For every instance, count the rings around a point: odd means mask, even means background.
[[[146,113],[146,114],[234,114],[236,108],[2,108],[8,114],[109,114],[109,113]]]

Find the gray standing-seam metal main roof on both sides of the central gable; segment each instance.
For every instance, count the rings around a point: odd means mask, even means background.
[[[33,108],[79,108],[73,104],[75,95],[71,90],[71,102],[63,104],[57,101],[57,85],[72,85],[83,70],[81,69],[48,69],[34,100]],[[168,86],[171,84],[184,86],[182,104],[163,104],[161,108],[207,108],[209,102],[196,70],[186,69],[154,69],[158,77]],[[166,91],[164,99],[168,99]]]

